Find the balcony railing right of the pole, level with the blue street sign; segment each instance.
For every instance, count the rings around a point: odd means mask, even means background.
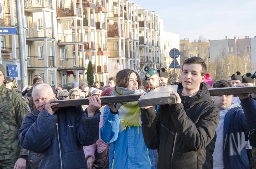
[[[39,38],[44,36],[44,27],[26,27],[27,38]],[[53,28],[46,27],[46,37],[53,38]]]

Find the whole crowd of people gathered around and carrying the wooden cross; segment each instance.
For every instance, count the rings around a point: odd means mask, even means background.
[[[150,69],[144,86],[136,71],[124,69],[107,86],[73,82],[53,91],[36,75],[19,94],[0,64],[0,169],[255,169],[255,94],[211,96],[208,90],[253,86],[255,73],[214,82],[204,60],[192,57],[182,65],[181,82],[173,84],[175,104],[101,104],[100,96],[145,99],[167,86],[168,77],[165,69]],[[89,105],[52,108],[54,101],[78,98]]]

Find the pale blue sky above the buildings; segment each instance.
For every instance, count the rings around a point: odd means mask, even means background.
[[[180,39],[222,40],[256,36],[256,0],[130,0],[163,19]]]

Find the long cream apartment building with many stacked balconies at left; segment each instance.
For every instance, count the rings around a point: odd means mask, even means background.
[[[0,28],[17,26],[14,2],[0,0]],[[24,0],[22,12],[28,85],[36,74],[53,90],[87,81],[89,60],[105,84],[124,68],[161,63],[159,16],[131,1]],[[0,39],[0,62],[19,70],[17,35]]]

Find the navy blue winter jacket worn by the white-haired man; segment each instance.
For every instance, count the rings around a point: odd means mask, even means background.
[[[36,108],[19,129],[21,146],[33,154],[32,168],[87,169],[83,145],[99,138],[100,111],[87,117],[81,106],[60,108],[52,116]]]

